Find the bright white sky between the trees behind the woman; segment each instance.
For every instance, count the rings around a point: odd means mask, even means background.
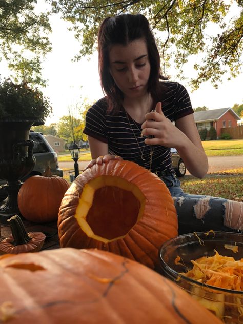
[[[58,15],[50,17],[50,22],[53,50],[47,54],[43,64],[43,78],[48,80],[48,86],[42,91],[50,98],[53,115],[46,119],[46,125],[58,123],[60,117],[68,115],[68,107],[82,104],[85,98],[92,104],[104,96],[99,83],[97,53],[94,53],[90,60],[84,57],[79,62],[72,62],[80,45],[74,38],[74,33],[68,30],[70,25]],[[218,89],[210,82],[205,82],[196,91],[192,91],[187,82],[175,79],[173,71],[169,73],[170,80],[177,81],[187,88],[193,108],[206,106],[211,110],[243,103],[243,73],[231,81],[224,77]],[[185,76],[190,77],[192,73],[189,67]],[[10,75],[5,62],[0,62],[0,74],[1,77]]]

